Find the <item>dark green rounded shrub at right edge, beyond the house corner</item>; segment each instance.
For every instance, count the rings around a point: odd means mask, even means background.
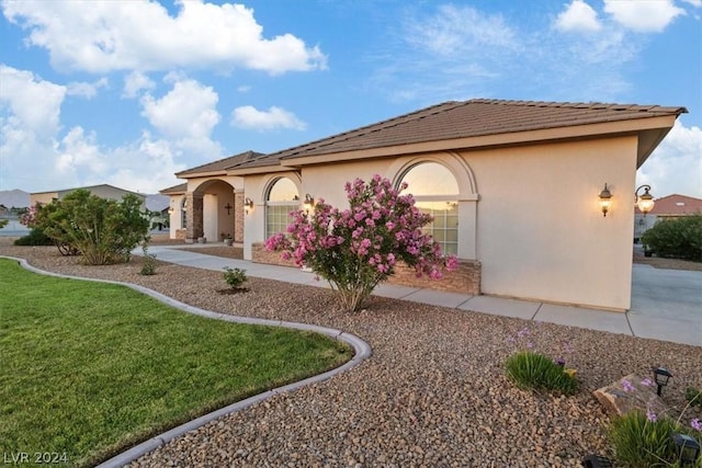
[[[659,256],[702,261],[702,215],[661,220],[641,238]]]

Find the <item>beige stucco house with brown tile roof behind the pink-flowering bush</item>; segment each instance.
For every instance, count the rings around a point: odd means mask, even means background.
[[[176,175],[171,237],[231,232],[246,259],[308,198],[347,206],[343,185],[409,183],[461,269],[432,287],[626,310],[636,169],[684,107],[500,100],[445,102],[271,155]],[[600,192],[612,198],[602,215]]]

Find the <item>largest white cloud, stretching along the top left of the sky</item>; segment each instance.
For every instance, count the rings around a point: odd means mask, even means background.
[[[271,75],[326,68],[318,47],[292,34],[263,36],[253,10],[202,0],[177,2],[176,16],[152,1],[5,1],[5,18],[30,31],[58,69],[249,68]]]

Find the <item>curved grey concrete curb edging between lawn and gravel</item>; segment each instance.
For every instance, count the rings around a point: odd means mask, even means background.
[[[115,281],[110,281],[110,279],[99,279],[99,278],[86,278],[86,277],[80,277],[80,276],[71,276],[71,275],[64,275],[60,273],[53,273],[53,272],[47,272],[44,270],[39,270],[35,266],[32,266],[27,263],[26,260],[24,259],[18,259],[14,256],[5,256],[5,255],[0,255],[0,259],[9,259],[9,260],[13,260],[16,261],[22,267],[24,267],[25,270],[29,270],[31,272],[37,273],[37,274],[42,274],[42,275],[47,275],[47,276],[55,276],[55,277],[63,277],[63,278],[69,278],[69,279],[82,279],[82,281],[91,281],[91,282],[95,282],[95,283],[106,283],[106,284],[116,284],[116,285],[122,285],[122,286],[127,286],[138,293],[143,293],[146,294],[147,296],[150,296],[168,306],[174,307],[177,309],[180,309],[184,312],[188,313],[192,313],[192,315],[196,315],[196,316],[201,316],[201,317],[207,317],[211,319],[215,319],[215,320],[224,320],[227,322],[235,322],[235,323],[244,323],[244,324],[257,324],[257,326],[267,326],[267,327],[282,327],[282,328],[287,328],[287,329],[293,329],[293,330],[301,330],[301,331],[312,331],[315,333],[321,333],[325,334],[329,338],[332,338],[335,340],[339,340],[339,341],[343,341],[344,343],[351,345],[353,347],[354,351],[354,355],[351,358],[351,361],[348,361],[347,363],[340,365],[339,367],[336,367],[331,370],[327,370],[322,374],[313,376],[313,377],[308,377],[306,379],[299,380],[299,381],[295,381],[292,384],[287,384],[284,385],[282,387],[278,387],[274,388],[272,390],[268,390],[264,391],[263,393],[259,393],[259,395],[254,395],[253,397],[249,397],[246,400],[241,400],[241,401],[237,401],[235,403],[231,403],[227,407],[220,408],[218,410],[212,411],[207,414],[204,414],[200,418],[196,418],[192,421],[189,421],[186,423],[183,423],[177,427],[173,427],[169,431],[166,431],[162,434],[159,434],[157,436],[154,436],[138,445],[135,445],[134,447],[103,461],[102,464],[98,465],[98,468],[117,468],[117,467],[123,467],[134,460],[136,460],[137,458],[148,454],[149,452],[155,450],[156,448],[166,445],[168,442],[170,442],[171,440],[183,435],[186,432],[190,432],[192,430],[199,429],[220,416],[227,415],[227,414],[231,414],[235,413],[237,411],[241,411],[254,403],[261,402],[263,400],[267,400],[275,395],[280,395],[280,393],[285,393],[287,391],[294,391],[298,388],[305,387],[307,385],[310,384],[316,384],[316,383],[320,383],[324,380],[327,380],[329,378],[331,378],[332,376],[340,374],[342,372],[346,372],[348,369],[351,369],[355,366],[358,366],[359,364],[361,364],[363,361],[367,359],[369,357],[371,357],[372,355],[372,349],[371,346],[363,340],[361,340],[359,336],[355,336],[351,333],[347,333],[340,330],[336,330],[336,329],[330,329],[330,328],[326,328],[326,327],[319,327],[319,326],[313,326],[313,324],[307,324],[307,323],[297,323],[297,322],[287,322],[287,321],[282,321],[282,320],[268,320],[268,319],[257,319],[257,318],[252,318],[252,317],[241,317],[241,316],[231,316],[228,313],[220,313],[220,312],[213,312],[211,310],[205,310],[205,309],[200,309],[197,307],[193,307],[193,306],[189,306],[184,303],[181,303],[179,300],[173,299],[172,297],[168,297],[163,294],[160,294],[156,290],[149,289],[147,287],[144,286],[139,286],[137,284],[132,284],[132,283],[122,283],[122,282],[115,282]]]

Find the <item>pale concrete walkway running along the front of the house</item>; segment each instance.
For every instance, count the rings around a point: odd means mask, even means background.
[[[211,246],[150,246],[149,253],[156,254],[158,260],[163,262],[184,266],[219,272],[225,266],[239,267],[252,277],[328,287],[326,282],[315,281],[313,273],[297,269],[182,250],[197,247]],[[702,272],[660,270],[634,264],[632,276],[632,309],[625,313],[388,284],[378,286],[373,294],[461,310],[702,346]]]

